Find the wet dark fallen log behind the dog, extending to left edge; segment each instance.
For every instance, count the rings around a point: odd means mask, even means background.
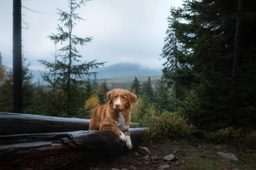
[[[0,135],[89,130],[90,119],[0,112]]]

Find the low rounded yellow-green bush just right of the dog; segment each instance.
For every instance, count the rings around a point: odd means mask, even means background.
[[[148,144],[150,141],[166,140],[166,139],[192,139],[192,133],[195,130],[194,126],[187,125],[183,117],[164,111],[162,114],[158,113],[151,119],[151,124],[146,130],[143,144]]]

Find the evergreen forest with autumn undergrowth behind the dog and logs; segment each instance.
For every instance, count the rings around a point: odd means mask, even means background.
[[[145,144],[203,136],[207,142],[256,152],[254,0],[183,0],[182,6],[171,7],[160,54],[165,59],[163,75],[154,82],[134,77],[129,85],[99,82],[90,71],[105,62],[79,61],[76,46],[92,41],[73,35],[72,28],[82,20],[76,14],[80,5],[70,0],[71,11],[59,10],[61,22],[49,33],[49,40],[66,46],[52,53],[52,61],[39,61],[50,71],[41,73],[47,87],[32,83],[22,54],[22,113],[90,119],[96,107],[108,102],[106,93],[122,86],[138,96],[131,122],[152,128]],[[3,57],[0,54],[0,111],[15,113],[14,71],[1,63]]]

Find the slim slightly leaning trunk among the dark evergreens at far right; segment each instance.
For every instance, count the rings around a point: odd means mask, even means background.
[[[236,105],[236,83],[238,79],[238,66],[239,58],[241,57],[241,21],[243,20],[242,16],[243,9],[243,0],[239,0],[238,9],[237,9],[237,21],[236,21],[236,37],[235,37],[235,52],[234,52],[234,61],[233,61],[233,74],[232,74],[232,87],[230,95],[230,104],[228,111],[228,126],[234,125],[234,115],[235,115],[235,105]]]

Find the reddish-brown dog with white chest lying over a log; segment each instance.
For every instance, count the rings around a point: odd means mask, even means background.
[[[102,105],[93,112],[89,130],[110,130],[132,149],[130,137],[131,106],[137,96],[130,91],[115,88],[106,93],[108,104]]]

